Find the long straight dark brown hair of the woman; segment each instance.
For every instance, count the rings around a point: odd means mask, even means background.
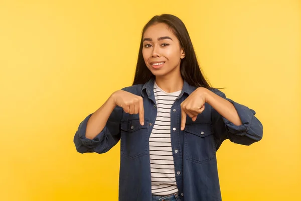
[[[185,52],[185,57],[181,60],[180,71],[182,78],[190,85],[196,87],[211,88],[208,81],[203,76],[200,66],[198,64],[197,56],[194,51],[190,36],[184,25],[184,23],[176,16],[163,14],[161,16],[154,16],[144,26],[141,36],[140,48],[138,53],[138,60],[136,66],[136,72],[132,85],[144,84],[154,75],[146,67],[146,64],[142,55],[143,48],[143,35],[146,29],[154,24],[164,23],[173,31],[175,36],[180,41],[180,45]]]

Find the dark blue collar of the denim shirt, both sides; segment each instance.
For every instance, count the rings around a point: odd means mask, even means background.
[[[155,77],[152,77],[143,85],[141,89],[141,95],[143,97],[145,95],[145,92],[148,95],[148,97],[152,95],[152,91],[154,90],[154,83],[155,83]],[[196,88],[195,86],[189,85],[187,81],[184,80],[182,91],[177,99],[181,98],[184,93],[190,95],[195,90],[195,88]]]

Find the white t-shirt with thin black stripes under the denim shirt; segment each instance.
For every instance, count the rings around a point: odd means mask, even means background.
[[[171,107],[180,91],[167,93],[154,84],[157,118],[149,137],[152,194],[168,195],[178,192],[171,144]]]

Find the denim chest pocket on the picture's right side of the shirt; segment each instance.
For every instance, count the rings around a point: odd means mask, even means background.
[[[185,158],[202,163],[215,158],[215,142],[211,124],[193,123],[185,126]]]

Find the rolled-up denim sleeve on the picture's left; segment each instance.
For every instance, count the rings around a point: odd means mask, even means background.
[[[110,150],[120,140],[120,121],[122,108],[115,107],[104,129],[93,139],[86,138],[87,122],[92,114],[86,117],[80,124],[74,135],[73,142],[80,153],[96,152],[104,153]]]

